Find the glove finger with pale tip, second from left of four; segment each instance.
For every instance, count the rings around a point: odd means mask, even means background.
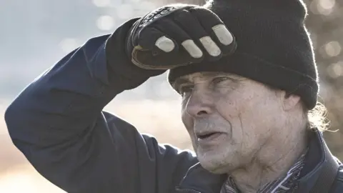
[[[182,48],[179,48],[179,52],[187,51],[189,54],[189,62],[202,61],[204,58],[202,49],[200,49],[192,40],[191,36],[189,36],[184,29],[175,24],[174,21],[164,18],[156,21],[155,24],[151,24],[151,26],[152,25],[177,41],[177,43],[182,46]]]

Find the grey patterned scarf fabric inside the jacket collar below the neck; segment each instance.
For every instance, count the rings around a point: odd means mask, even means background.
[[[308,149],[307,149],[308,151]],[[274,182],[269,182],[259,189],[257,193],[287,193],[293,192],[294,189],[297,189],[297,186],[294,182],[299,179],[300,172],[304,167],[304,159],[307,151],[302,154],[301,157],[297,160],[297,162],[289,169],[287,174],[275,180]],[[237,186],[234,184],[234,180],[229,177],[229,180],[224,184],[224,188],[222,189],[222,193],[240,193]]]

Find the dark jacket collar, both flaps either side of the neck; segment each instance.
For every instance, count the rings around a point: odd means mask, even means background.
[[[332,156],[328,149],[328,151],[324,149],[327,149],[327,144],[324,142],[322,132],[317,130],[309,132],[309,152],[307,152],[305,166],[298,180],[297,192],[309,192],[317,182],[326,157]],[[227,174],[212,174],[197,163],[188,170],[177,189],[183,192],[218,193],[227,178]]]

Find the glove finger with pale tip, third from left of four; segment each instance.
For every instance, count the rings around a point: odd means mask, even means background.
[[[173,14],[173,20],[194,39],[194,41],[205,51],[205,58],[211,60],[219,59],[222,56],[222,51],[217,44],[211,39],[207,31],[187,10],[179,10]]]

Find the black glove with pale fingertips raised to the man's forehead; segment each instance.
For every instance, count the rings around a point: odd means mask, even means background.
[[[201,6],[163,6],[134,23],[126,54],[143,69],[173,69],[204,59],[215,61],[236,49],[223,21]]]

